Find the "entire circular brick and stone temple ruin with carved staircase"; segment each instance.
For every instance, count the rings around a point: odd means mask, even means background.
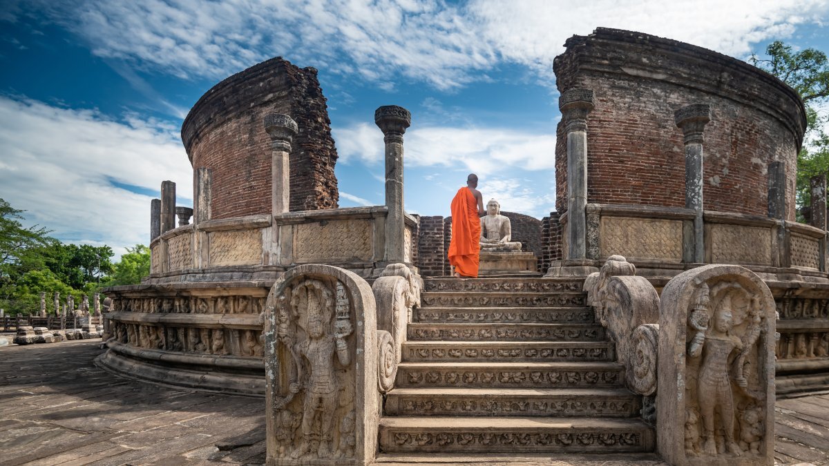
[[[375,114],[385,205],[332,208],[336,149],[316,71],[277,58],[222,81],[188,115],[194,222],[175,226],[175,186],[164,182],[151,207],[151,274],[107,289],[99,365],[269,396],[269,420],[288,421],[283,438],[268,427],[279,464],[324,459],[313,439],[342,464],[378,451],[644,453],[660,443],[679,463],[687,450],[701,454],[689,464],[768,464],[775,387],[829,383],[825,178],[812,180],[811,224],[793,222],[802,102],[742,61],[656,36],[599,28],[566,46],[555,61],[556,211],[502,212],[539,272],[448,278],[451,218],[403,210],[411,114],[401,107]],[[709,322],[754,348],[736,376],[709,373],[731,366],[733,349],[705,332]],[[696,343],[672,344],[686,337]],[[675,364],[706,345],[722,361]],[[307,384],[274,376],[293,366],[308,379],[301,355],[288,354],[309,348],[322,355],[305,354],[312,373],[341,371],[359,396],[326,408],[303,401],[314,395]],[[265,376],[263,359],[279,371]],[[709,425],[696,434],[704,452],[682,448],[686,421],[732,403],[696,388],[671,400],[671,384],[699,371],[748,386],[736,408],[754,440],[720,445]],[[657,385],[669,404],[655,414]],[[492,387],[497,399],[480,396]],[[320,421],[286,427],[297,415]],[[560,416],[578,420],[561,429]],[[497,425],[481,430],[482,417]]]

